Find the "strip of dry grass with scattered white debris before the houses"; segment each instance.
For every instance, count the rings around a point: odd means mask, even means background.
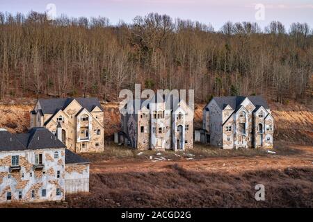
[[[285,146],[285,144],[277,143],[275,148],[271,149],[275,151],[275,155],[294,155],[299,154],[301,151],[298,149]],[[142,153],[138,155],[138,153]],[[161,153],[161,155],[157,155]],[[255,157],[255,156],[266,156],[272,155],[268,154],[263,148],[239,148],[223,150],[221,148],[216,148],[214,146],[208,146],[200,143],[195,143],[193,148],[187,149],[186,151],[159,151],[159,150],[143,150],[138,151],[134,148],[129,148],[127,146],[119,146],[111,142],[104,148],[103,153],[84,153],[81,154],[88,160],[94,163],[105,162],[109,160],[127,160],[127,161],[138,161],[143,160],[158,160],[163,157],[166,160],[200,160],[207,157]],[[152,159],[150,159],[152,157]],[[157,159],[155,159],[157,158]]]

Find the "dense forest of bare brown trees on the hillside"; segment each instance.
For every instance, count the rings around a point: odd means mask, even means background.
[[[195,89],[195,101],[255,95],[280,103],[313,100],[313,30],[306,23],[264,29],[150,13],[130,24],[106,17],[55,20],[0,12],[0,99],[98,96],[121,89]]]

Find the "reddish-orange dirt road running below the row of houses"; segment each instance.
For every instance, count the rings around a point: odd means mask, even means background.
[[[287,145],[285,145],[287,146]],[[178,163],[179,166],[191,171],[242,173],[253,170],[282,170],[286,168],[313,168],[313,146],[288,145],[297,151],[295,155],[275,155],[269,153],[266,156],[257,157],[209,157],[200,160],[179,160],[152,162],[121,160],[109,160],[97,164],[91,164],[91,173],[126,173],[126,172],[160,172],[167,171],[168,166]]]

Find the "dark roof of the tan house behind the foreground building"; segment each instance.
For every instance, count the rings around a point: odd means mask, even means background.
[[[96,106],[104,111],[97,98],[58,98],[58,99],[39,99],[43,114],[54,114],[56,110],[64,110],[73,100],[76,100],[88,112],[91,112]]]

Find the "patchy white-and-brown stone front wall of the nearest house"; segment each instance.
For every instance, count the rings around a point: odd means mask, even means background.
[[[64,148],[51,148],[35,151],[0,152],[0,203],[16,200],[19,202],[40,202],[65,199]],[[58,152],[58,158],[54,153]],[[42,169],[33,169],[35,154],[42,154]],[[12,155],[19,155],[21,169],[10,171]],[[57,178],[57,172],[60,177]],[[56,189],[61,189],[61,195],[56,195]],[[46,196],[42,196],[46,189]],[[19,198],[22,191],[22,198]],[[32,197],[32,191],[34,197]],[[6,200],[7,192],[11,192],[11,200]]]

